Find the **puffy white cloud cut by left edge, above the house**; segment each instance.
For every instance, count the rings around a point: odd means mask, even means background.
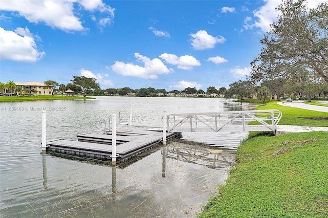
[[[28,28],[18,27],[13,32],[0,27],[0,42],[0,59],[35,62],[46,54],[37,50],[33,34]]]

